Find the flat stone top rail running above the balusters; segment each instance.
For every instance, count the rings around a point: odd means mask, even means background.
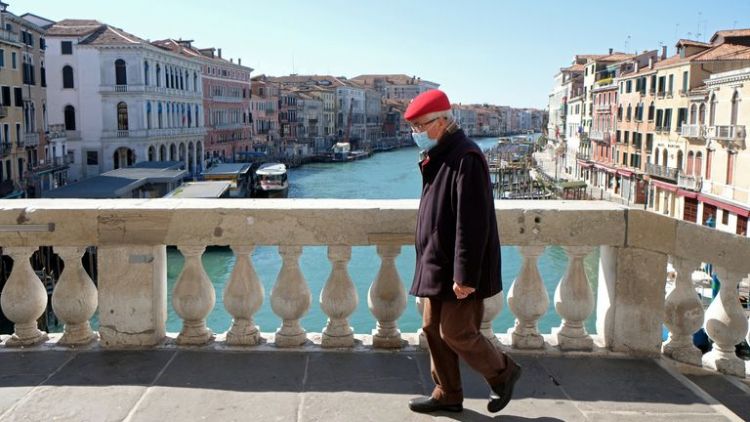
[[[0,246],[410,244],[418,200],[14,199]],[[496,201],[504,245],[616,246],[750,272],[750,238],[603,201]]]

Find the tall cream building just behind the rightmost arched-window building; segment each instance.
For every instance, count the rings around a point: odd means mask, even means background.
[[[679,40],[677,53],[655,65],[656,133],[653,165],[648,167],[649,209],[703,223],[712,215],[711,207],[698,209],[700,188],[695,182],[696,177],[703,177],[706,172],[713,176],[715,149],[712,147],[715,144],[708,147],[707,141],[715,138],[701,133],[700,126],[688,125],[689,110],[695,106],[697,125],[700,125],[701,105],[707,127],[715,128],[717,121],[730,120],[729,116],[720,115],[718,91],[709,88],[707,81],[712,74],[750,66],[746,53],[750,46],[749,33],[748,30],[719,31],[710,43]],[[729,108],[724,110],[729,111]],[[706,219],[699,220],[698,216],[704,214]]]

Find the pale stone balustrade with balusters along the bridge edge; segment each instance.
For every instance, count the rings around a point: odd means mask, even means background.
[[[416,200],[140,199],[65,204],[16,199],[5,201],[0,209],[0,219],[7,223],[0,231],[2,253],[14,262],[1,303],[15,328],[3,343],[5,348],[34,350],[47,340],[47,334],[37,329],[37,319],[47,309],[47,292],[30,260],[39,246],[53,247],[66,264],[53,292],[53,308],[64,323],[62,337],[54,336],[58,348],[95,342],[102,348],[147,348],[173,336],[177,347],[212,341],[249,347],[267,341],[277,347],[312,342],[353,348],[357,342],[349,318],[365,301],[359,300],[348,264],[352,249],[362,246],[375,246],[381,258],[367,293],[369,323],[374,329],[367,344],[398,349],[410,340],[425,347],[424,339],[398,329],[408,301],[395,260],[402,246],[413,245]],[[664,353],[744,376],[745,365],[734,355],[734,345],[747,335],[737,286],[750,272],[750,239],[606,202],[498,201],[496,216],[503,244],[517,246],[522,260],[521,271],[506,289],[508,307],[516,319],[514,327],[503,327],[511,328],[509,346],[539,351],[555,348],[580,355],[593,351],[596,339],[598,347],[608,351],[636,356]],[[585,225],[580,224],[582,216]],[[83,268],[84,245],[97,251],[91,255],[98,269],[96,285]],[[166,245],[176,245],[185,257],[170,302]],[[214,245],[231,245],[236,257],[221,292],[233,323],[221,336],[208,327],[217,292],[201,259],[206,247]],[[276,246],[281,255],[281,270],[269,296],[253,268],[251,255],[256,245]],[[557,285],[550,308],[553,292],[542,283],[538,260],[548,246],[558,245],[567,254],[570,268]],[[328,317],[320,334],[308,333],[310,327],[302,324],[315,303],[299,266],[308,246],[327,247],[331,265],[320,293],[319,306]],[[599,279],[592,288],[583,258],[595,249],[599,250]],[[665,300],[668,261],[678,276]],[[722,281],[716,306],[705,315],[691,280],[700,262],[712,263]],[[270,310],[262,307],[264,300],[270,301]],[[182,323],[176,335],[166,332],[168,303]],[[502,293],[484,300],[482,333],[497,345],[500,338],[493,331],[493,321],[504,304]],[[419,309],[409,308],[415,319]],[[282,323],[277,330],[256,327],[253,316],[258,312],[273,312]],[[542,333],[539,320],[550,312],[562,323],[551,334]],[[98,336],[90,326],[95,314]],[[594,332],[589,332],[584,322],[592,314],[596,324]],[[663,325],[670,330],[664,344]],[[714,351],[704,356],[692,343],[692,334],[701,326],[715,342]],[[274,330],[275,334],[268,334]]]

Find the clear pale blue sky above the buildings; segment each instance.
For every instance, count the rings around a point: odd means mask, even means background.
[[[241,57],[253,74],[406,73],[440,83],[454,102],[515,107],[544,107],[555,72],[576,53],[624,50],[629,36],[627,51],[661,42],[671,54],[679,38],[750,28],[750,0],[9,3],[16,14],[98,19],[152,40],[194,39]]]

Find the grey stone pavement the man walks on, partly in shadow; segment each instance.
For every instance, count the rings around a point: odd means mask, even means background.
[[[459,421],[750,419],[739,380],[651,359],[514,354],[514,400],[485,409],[464,368]],[[422,421],[409,398],[432,389],[424,352],[3,351],[0,421]],[[715,399],[715,398],[716,399]],[[718,399],[718,400],[717,400]]]

